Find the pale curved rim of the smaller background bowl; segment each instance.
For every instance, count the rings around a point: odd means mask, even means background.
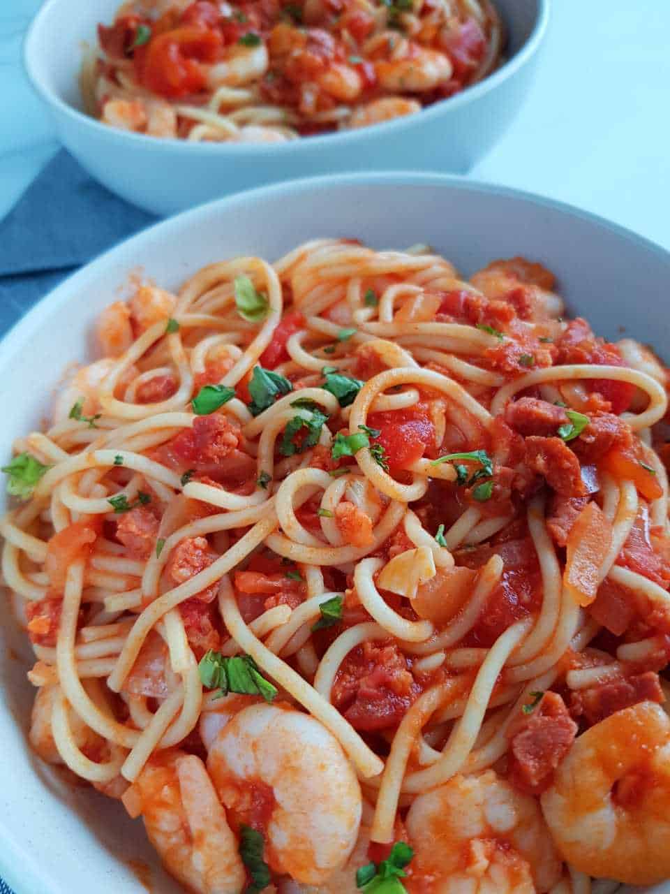
[[[314,147],[318,150],[324,145],[346,145],[356,139],[366,138],[370,131],[372,131],[373,134],[379,135],[382,139],[385,136],[392,139],[395,133],[402,128],[415,127],[419,122],[430,122],[431,118],[440,117],[441,114],[446,114],[448,109],[456,112],[459,108],[462,108],[468,103],[475,102],[477,99],[488,94],[491,90],[496,89],[505,80],[511,78],[515,72],[530,63],[532,57],[538,52],[540,45],[547,34],[552,0],[534,0],[537,8],[535,23],[530,35],[524,41],[523,46],[521,46],[515,55],[507,60],[506,63],[502,64],[495,72],[491,72],[486,78],[473,84],[472,87],[466,88],[461,93],[456,94],[456,96],[448,97],[447,99],[442,99],[439,102],[433,103],[427,108],[422,109],[418,114],[403,115],[394,120],[373,124],[369,127],[362,127],[353,131],[334,131],[309,137],[308,139],[291,139],[285,143],[271,144],[235,144],[205,141],[190,142],[186,139],[173,137],[149,137],[147,134],[143,133],[132,133],[130,131],[121,131],[120,128],[108,127],[91,115],[80,112],[79,109],[64,102],[64,100],[56,94],[54,89],[52,89],[52,87],[38,75],[38,72],[36,71],[36,63],[34,62],[34,54],[36,52],[37,44],[36,35],[38,35],[42,27],[42,21],[53,7],[66,2],[67,0],[46,0],[46,3],[40,7],[38,13],[36,13],[33,20],[30,22],[29,29],[23,39],[21,53],[23,68],[32,88],[38,93],[38,96],[42,98],[46,105],[53,108],[55,112],[64,115],[66,118],[70,119],[71,122],[79,123],[80,126],[88,128],[88,130],[92,131],[94,134],[97,133],[100,136],[105,134],[107,139],[112,139],[113,141],[120,143],[130,141],[128,145],[136,143],[138,147],[154,146],[156,151],[159,152],[184,147],[187,152],[192,152],[194,155],[200,156],[215,156],[221,153],[222,155],[235,157],[250,153],[253,156],[273,157],[290,152],[309,152],[310,147]]]

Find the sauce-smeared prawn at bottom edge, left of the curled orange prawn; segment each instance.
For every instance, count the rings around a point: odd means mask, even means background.
[[[420,795],[406,818],[415,848],[407,890],[438,878],[435,894],[534,894],[558,881],[561,863],[540,807],[496,772],[455,776]]]

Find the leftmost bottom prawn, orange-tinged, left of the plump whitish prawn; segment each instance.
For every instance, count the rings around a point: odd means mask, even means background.
[[[246,870],[205,764],[176,750],[152,757],[121,798],[176,879],[197,894],[240,894]]]

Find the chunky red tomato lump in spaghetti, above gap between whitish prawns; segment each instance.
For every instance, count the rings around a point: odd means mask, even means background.
[[[397,645],[358,645],[340,664],[332,704],[356,730],[397,726],[419,686]]]

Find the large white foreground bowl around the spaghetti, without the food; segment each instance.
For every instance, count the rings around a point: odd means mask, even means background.
[[[318,222],[318,223],[315,223]],[[278,225],[279,224],[279,225]],[[96,316],[141,268],[176,289],[198,267],[235,255],[268,259],[316,236],[358,237],[377,248],[427,242],[465,274],[517,254],[549,266],[573,313],[597,333],[621,328],[666,350],[670,254],[593,215],[548,199],[456,177],[344,175],[255,190],[159,223],[99,257],[30,310],[0,344],[0,459],[13,438],[40,425],[64,367],[88,358]],[[0,704],[0,874],[16,894],[137,894],[126,861],[154,874],[152,890],[177,889],[157,869],[139,821],[92,789],[46,785],[25,732],[32,701],[29,647],[5,612]],[[15,660],[10,648],[25,661]],[[670,891],[670,884],[657,887]]]

